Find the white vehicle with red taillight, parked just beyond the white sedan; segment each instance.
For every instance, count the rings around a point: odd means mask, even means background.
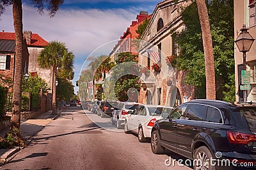
[[[121,102],[118,105],[118,109],[112,112],[111,124],[116,125],[116,128],[123,128],[126,116],[129,112],[134,111],[138,105],[139,104],[135,102]]]

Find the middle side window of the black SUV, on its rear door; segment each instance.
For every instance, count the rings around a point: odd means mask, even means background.
[[[206,105],[189,104],[186,111],[186,120],[204,121],[206,118]]]

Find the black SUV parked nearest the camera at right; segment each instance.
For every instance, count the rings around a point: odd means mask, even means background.
[[[193,159],[197,162],[194,169],[255,169],[255,134],[256,107],[192,100],[174,109],[168,118],[156,121],[151,149],[163,153],[166,148]],[[205,162],[207,159],[215,164]]]

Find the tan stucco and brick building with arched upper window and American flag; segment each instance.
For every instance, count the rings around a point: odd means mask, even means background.
[[[177,71],[166,63],[167,56],[178,52],[173,33],[184,29],[178,10],[188,5],[186,1],[166,0],[158,3],[152,13],[142,37],[148,43],[142,44],[139,50],[139,63],[150,68],[150,75],[142,77],[141,103],[173,106],[195,98],[195,87],[183,82],[186,72]],[[152,69],[154,64],[161,67],[161,72]]]

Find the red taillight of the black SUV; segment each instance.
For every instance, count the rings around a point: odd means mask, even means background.
[[[248,144],[256,141],[256,135],[227,131],[228,141],[236,144]]]

